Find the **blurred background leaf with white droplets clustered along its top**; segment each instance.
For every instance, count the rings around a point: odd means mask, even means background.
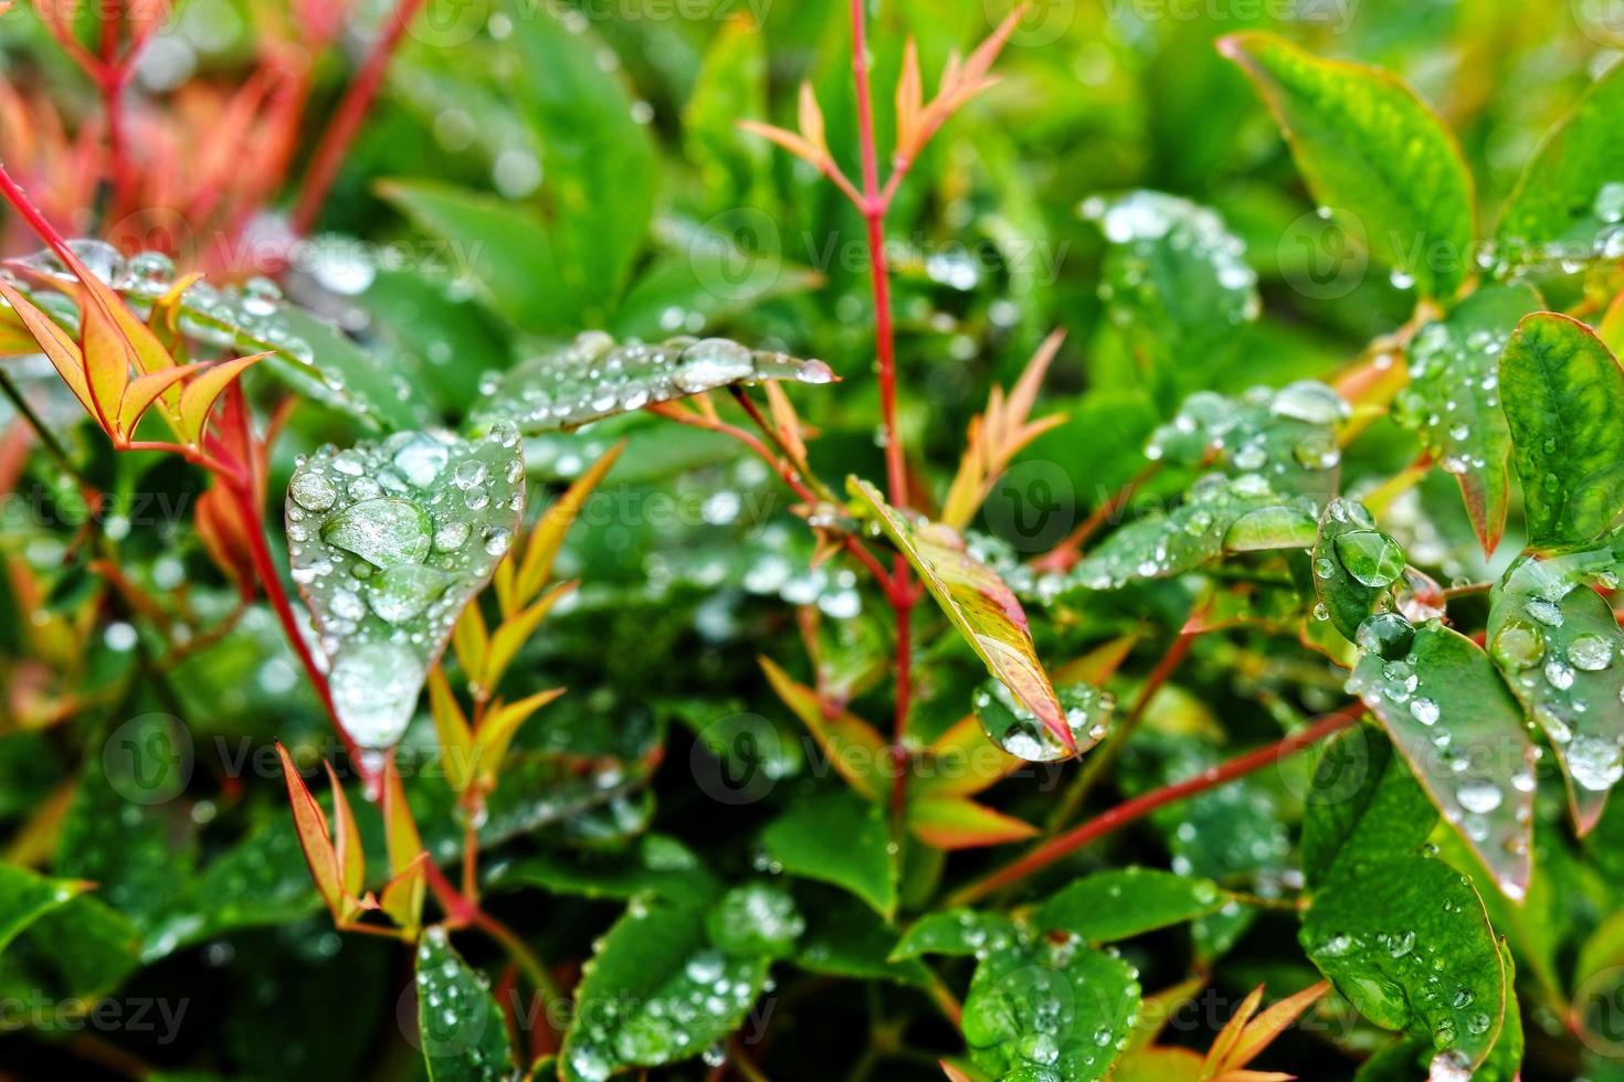
[[[1083,214],[1109,245],[1099,269],[1106,316],[1158,381],[1176,391],[1221,370],[1236,328],[1262,307],[1241,238],[1215,211],[1161,191],[1096,196]]]

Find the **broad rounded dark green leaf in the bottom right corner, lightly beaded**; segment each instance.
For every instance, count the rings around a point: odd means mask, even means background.
[[[1504,1024],[1499,944],[1471,882],[1418,855],[1358,861],[1302,915],[1302,949],[1371,1022],[1476,1066]],[[1437,1076],[1434,1076],[1437,1077]]]

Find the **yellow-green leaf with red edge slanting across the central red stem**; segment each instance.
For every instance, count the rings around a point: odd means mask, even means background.
[[[957,530],[892,508],[874,485],[859,477],[846,479],[846,488],[857,503],[857,513],[875,522],[919,573],[942,613],[987,672],[1060,746],[1075,754],[1104,735],[1101,730],[1086,743],[1078,743],[1049,673],[1038,660],[1026,613],[1013,590],[966,550]]]

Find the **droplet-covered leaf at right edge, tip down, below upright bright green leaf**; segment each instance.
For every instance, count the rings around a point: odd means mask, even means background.
[[[1595,586],[1608,550],[1527,556],[1494,592],[1486,642],[1512,694],[1551,741],[1579,834],[1624,777],[1624,631]]]

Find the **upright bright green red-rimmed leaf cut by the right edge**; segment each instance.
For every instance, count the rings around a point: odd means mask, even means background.
[[[1624,513],[1624,371],[1577,320],[1538,311],[1501,355],[1528,540],[1583,543]]]

